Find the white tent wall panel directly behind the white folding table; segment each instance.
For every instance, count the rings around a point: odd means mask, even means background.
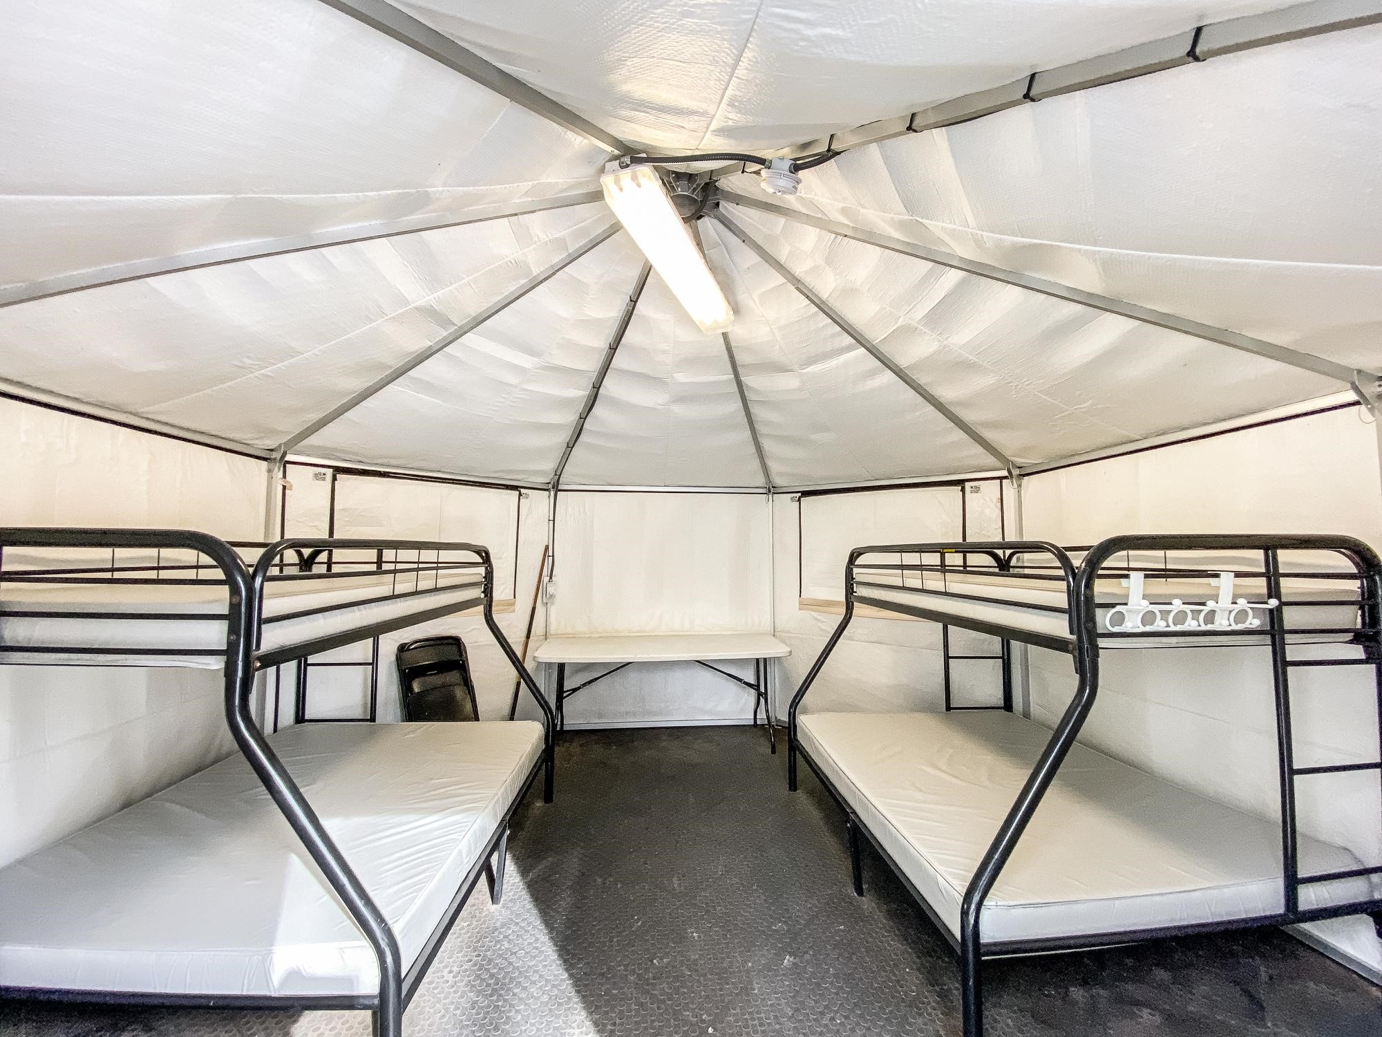
[[[771,630],[766,494],[557,494],[551,636]],[[752,662],[716,665],[752,678]],[[568,671],[568,686],[604,664]],[[549,675],[550,680],[550,675]],[[634,665],[567,704],[567,727],[737,723],[752,694],[694,662]]]

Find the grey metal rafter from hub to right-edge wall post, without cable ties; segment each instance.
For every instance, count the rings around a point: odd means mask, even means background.
[[[1086,292],[1082,288],[1061,285],[1057,281],[1046,281],[1045,278],[1032,277],[1030,274],[1020,274],[1017,271],[995,267],[991,263],[980,263],[978,260],[965,259],[963,256],[956,256],[951,252],[916,245],[915,242],[904,241],[902,238],[893,238],[887,234],[865,231],[846,223],[839,223],[837,220],[828,220],[821,216],[800,213],[795,209],[760,200],[750,195],[721,191],[720,199],[734,205],[742,205],[748,209],[760,209],[766,213],[773,213],[774,216],[784,216],[789,220],[803,223],[807,227],[815,227],[817,230],[826,231],[828,234],[833,234],[839,238],[849,238],[850,241],[862,242],[864,245],[872,245],[889,252],[897,252],[902,256],[911,256],[912,259],[925,260],[941,267],[949,267],[951,270],[959,270],[966,274],[974,274],[981,278],[988,278],[990,281],[999,281],[1005,285],[1013,285],[1014,288],[1025,288],[1030,292],[1038,292],[1043,296],[1052,296],[1053,299],[1064,299],[1067,303],[1088,306],[1092,310],[1101,310],[1106,314],[1126,317],[1130,321],[1150,324],[1169,332],[1179,332],[1180,335],[1189,335],[1195,339],[1204,339],[1205,342],[1213,342],[1220,346],[1241,350],[1242,353],[1251,353],[1265,359],[1274,359],[1278,364],[1287,364],[1292,368],[1310,371],[1316,375],[1343,382],[1345,384],[1353,384],[1359,373],[1353,368],[1336,361],[1316,357],[1309,353],[1299,353],[1287,346],[1277,346],[1276,343],[1266,342],[1265,339],[1255,339],[1251,335],[1240,335],[1238,332],[1215,328],[1213,325],[1201,324],[1200,321],[1191,321],[1184,317],[1176,317],[1175,314],[1162,312],[1161,310],[1153,310],[1146,306],[1137,306],[1136,303],[1125,303],[1121,299]]]

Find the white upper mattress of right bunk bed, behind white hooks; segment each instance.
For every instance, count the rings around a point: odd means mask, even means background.
[[[858,574],[857,595],[879,601],[890,601],[915,608],[941,613],[954,617],[958,624],[965,619],[1025,630],[1049,640],[1070,643],[1070,622],[1067,619],[1064,585],[1057,581],[1030,579],[1021,577],[994,577],[988,574],[947,572],[944,579],[934,572],[907,572],[904,575],[879,570],[864,570]],[[1172,599],[1202,604],[1215,597],[1216,589],[1209,581],[1153,581],[1148,578],[1146,596],[1154,603],[1169,603]],[[976,601],[973,597],[998,599]],[[1260,601],[1262,595],[1253,590],[1234,593]],[[1347,581],[1294,581],[1287,592],[1288,601],[1345,600],[1357,599],[1357,583]],[[1128,592],[1119,590],[1117,581],[1101,581],[1097,592],[1099,630],[1106,633],[1104,618],[1119,603],[1126,603]],[[1060,611],[1052,611],[1059,608]],[[1343,629],[1357,625],[1356,606],[1298,606],[1285,608],[1288,640],[1292,643],[1343,642],[1349,635],[1313,633],[1318,629]],[[1179,636],[1158,635],[1155,637],[1104,636],[1104,648],[1183,647],[1212,642],[1218,646],[1266,644],[1262,633],[1213,633],[1186,630]],[[1056,646],[1050,646],[1056,647]]]

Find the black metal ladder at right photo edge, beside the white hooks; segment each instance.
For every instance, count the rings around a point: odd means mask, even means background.
[[[1266,574],[1266,590],[1269,599],[1281,597],[1281,559],[1276,549],[1263,552],[1263,572]],[[1318,882],[1335,882],[1346,878],[1363,878],[1382,874],[1382,864],[1360,868],[1346,868],[1342,871],[1323,871],[1316,874],[1300,874],[1299,843],[1296,834],[1296,780],[1317,774],[1342,774],[1349,772],[1374,772],[1382,780],[1382,636],[1378,624],[1382,617],[1382,603],[1376,601],[1367,586],[1361,592],[1361,628],[1365,640],[1363,642],[1361,658],[1307,658],[1294,660],[1287,651],[1285,608],[1276,608],[1270,613],[1269,629],[1271,644],[1273,687],[1277,700],[1277,755],[1280,763],[1281,781],[1281,872],[1284,885],[1285,914],[1294,915],[1300,910],[1300,886]],[[1291,727],[1291,669],[1296,666],[1372,666],[1374,684],[1376,689],[1378,711],[1378,759],[1357,763],[1328,763],[1320,766],[1298,767],[1295,765],[1295,742]],[[1382,936],[1382,913],[1370,913],[1372,922]]]

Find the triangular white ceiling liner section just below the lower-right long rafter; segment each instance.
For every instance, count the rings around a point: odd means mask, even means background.
[[[778,216],[731,206],[731,218],[1020,463],[1209,424],[1338,384]]]

